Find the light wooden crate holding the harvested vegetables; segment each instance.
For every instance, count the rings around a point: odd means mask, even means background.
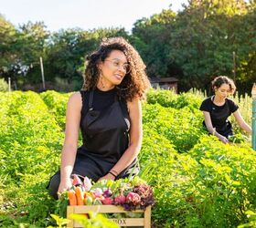
[[[68,206],[67,218],[72,213],[88,213],[88,212],[99,212],[99,213],[125,213],[121,206],[115,205],[91,205],[91,206]],[[132,211],[135,213],[144,213],[143,218],[121,218],[121,219],[110,219],[120,226],[143,226],[144,228],[151,227],[151,206],[148,206],[145,211],[136,210]],[[73,220],[68,224],[68,227],[82,227],[80,223]]]

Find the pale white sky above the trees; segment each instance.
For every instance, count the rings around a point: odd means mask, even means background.
[[[48,30],[124,27],[163,9],[182,10],[187,0],[0,0],[0,14],[13,25],[43,21]],[[170,6],[171,5],[171,6]]]

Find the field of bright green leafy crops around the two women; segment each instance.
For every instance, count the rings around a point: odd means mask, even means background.
[[[59,205],[46,187],[59,169],[69,95],[0,93],[0,227],[56,225],[50,213]],[[143,104],[140,175],[154,188],[154,227],[237,227],[256,211],[251,142],[236,125],[234,143],[209,136],[198,110],[203,98],[151,90]],[[251,98],[235,100],[251,123]]]

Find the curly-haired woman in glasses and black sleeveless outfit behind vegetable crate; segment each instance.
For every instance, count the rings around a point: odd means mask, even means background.
[[[72,174],[99,181],[138,173],[141,100],[149,87],[142,58],[123,37],[103,39],[87,57],[83,88],[68,102],[60,171],[49,182],[54,198],[71,187]]]

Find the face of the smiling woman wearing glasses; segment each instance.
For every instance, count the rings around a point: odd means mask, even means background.
[[[103,62],[99,64],[101,70],[101,83],[104,86],[112,88],[119,85],[126,73],[129,71],[130,66],[122,51],[112,50],[109,57],[106,57]]]

